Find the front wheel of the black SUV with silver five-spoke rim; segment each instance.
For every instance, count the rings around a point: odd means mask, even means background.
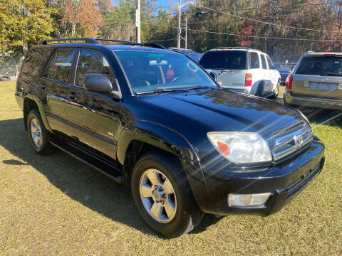
[[[143,155],[134,166],[131,189],[147,225],[167,238],[189,233],[204,216],[173,156],[157,151]]]

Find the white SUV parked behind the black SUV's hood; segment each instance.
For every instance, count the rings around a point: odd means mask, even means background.
[[[271,58],[251,48],[213,48],[199,60],[222,87],[259,97],[278,97],[280,73]]]

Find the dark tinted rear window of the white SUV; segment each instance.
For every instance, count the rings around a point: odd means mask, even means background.
[[[199,61],[207,69],[246,69],[247,52],[243,50],[212,50]]]

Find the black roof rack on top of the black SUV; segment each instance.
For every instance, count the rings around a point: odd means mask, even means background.
[[[103,39],[103,38],[56,38],[46,39],[41,41],[40,45],[48,45],[53,43],[94,43],[100,44],[100,42],[113,42],[118,44],[125,44],[131,46],[150,46],[153,48],[166,49],[164,46],[160,46],[156,43],[135,43],[131,41],[115,40],[115,39]]]

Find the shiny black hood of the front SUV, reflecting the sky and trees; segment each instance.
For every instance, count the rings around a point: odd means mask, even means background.
[[[144,95],[140,100],[148,105],[141,106],[143,112],[152,117],[138,119],[170,127],[190,141],[207,132],[258,132],[268,139],[275,130],[303,120],[300,112],[277,102],[224,89]]]

